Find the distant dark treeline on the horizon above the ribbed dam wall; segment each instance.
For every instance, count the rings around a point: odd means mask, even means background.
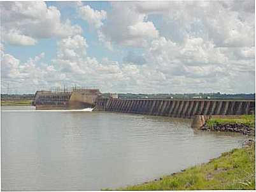
[[[104,93],[104,98],[110,97],[110,93]],[[133,94],[133,93],[118,93],[118,98],[122,99],[255,99],[253,94],[220,94],[220,93],[184,93],[184,94]]]

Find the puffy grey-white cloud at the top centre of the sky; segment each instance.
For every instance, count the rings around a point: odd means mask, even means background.
[[[153,23],[130,2],[125,2],[125,6],[122,2],[112,3],[111,15],[102,28],[105,39],[123,46],[145,47],[159,36]]]

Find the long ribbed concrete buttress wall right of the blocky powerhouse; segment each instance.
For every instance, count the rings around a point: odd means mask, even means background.
[[[255,113],[255,99],[96,99],[97,110],[190,118]]]

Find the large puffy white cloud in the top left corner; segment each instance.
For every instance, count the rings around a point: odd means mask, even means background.
[[[44,2],[1,2],[3,41],[15,45],[34,45],[38,39],[81,34],[78,25],[60,20],[60,11]]]

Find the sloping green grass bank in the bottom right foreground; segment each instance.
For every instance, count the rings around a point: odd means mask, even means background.
[[[255,143],[184,172],[117,190],[255,189]]]

